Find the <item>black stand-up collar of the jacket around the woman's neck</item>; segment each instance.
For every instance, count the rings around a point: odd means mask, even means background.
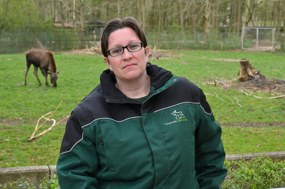
[[[158,67],[155,64],[149,63],[149,66],[146,67],[146,72],[151,76],[151,86],[156,89],[162,86],[167,80],[172,77],[172,73],[161,67]],[[126,95],[122,93],[118,88],[116,88],[116,78],[115,75],[110,75],[110,70],[104,70],[100,76],[100,82],[102,86],[102,91],[106,102],[115,102],[115,103],[125,103]],[[127,98],[129,103],[138,104],[137,100]]]

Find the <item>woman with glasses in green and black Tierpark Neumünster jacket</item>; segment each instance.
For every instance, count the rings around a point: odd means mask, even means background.
[[[148,63],[132,17],[111,20],[101,48],[109,69],[66,123],[61,189],[220,188],[221,127],[202,90]]]

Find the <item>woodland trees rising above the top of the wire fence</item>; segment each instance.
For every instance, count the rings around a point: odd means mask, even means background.
[[[133,16],[142,27],[216,28],[239,32],[241,27],[283,30],[285,0],[1,0],[0,30],[51,27],[53,23],[109,21]],[[64,25],[63,25],[64,26]],[[78,27],[78,26],[77,26]]]

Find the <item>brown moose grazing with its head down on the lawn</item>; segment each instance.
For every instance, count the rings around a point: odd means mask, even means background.
[[[45,51],[42,49],[31,49],[26,53],[26,59],[27,59],[27,67],[25,70],[25,86],[27,85],[26,82],[27,73],[29,71],[31,64],[34,65],[34,75],[37,77],[39,85],[42,85],[42,83],[40,82],[38,77],[38,67],[42,71],[42,75],[44,75],[45,77],[45,85],[47,85],[47,87],[50,87],[50,85],[47,82],[47,74],[49,74],[50,82],[53,84],[53,87],[57,86],[56,80],[58,78],[57,75],[59,71],[56,72],[56,62],[54,61],[52,52]]]

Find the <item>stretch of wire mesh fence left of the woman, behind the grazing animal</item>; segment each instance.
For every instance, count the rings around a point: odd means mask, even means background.
[[[101,36],[99,30],[18,30],[0,31],[0,54],[20,53],[32,48],[51,51],[81,49],[95,46]]]

